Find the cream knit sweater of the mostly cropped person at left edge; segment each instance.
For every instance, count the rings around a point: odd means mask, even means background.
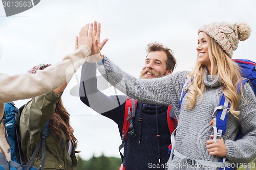
[[[91,54],[88,46],[81,45],[78,50],[66,56],[60,63],[38,70],[36,74],[9,76],[0,73],[0,118],[3,117],[6,102],[29,99],[47,93],[70,80],[75,71]],[[5,138],[4,123],[0,125],[0,152],[10,160],[9,144]]]

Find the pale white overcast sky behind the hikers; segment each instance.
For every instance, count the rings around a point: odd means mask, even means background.
[[[178,61],[175,71],[193,67],[197,30],[213,21],[247,22],[251,36],[239,43],[233,58],[256,61],[255,9],[254,0],[41,0],[28,11],[6,17],[0,4],[0,71],[14,75],[37,64],[56,64],[72,53],[80,28],[94,20],[101,22],[101,39],[109,38],[102,53],[135,77],[143,65],[146,45],[153,41],[173,50]],[[80,70],[76,75],[80,79]],[[71,95],[76,84],[74,76],[62,100],[71,114],[79,155],[83,159],[102,153],[120,157],[117,125]],[[103,92],[115,94],[113,87]],[[26,102],[15,101],[18,107]]]

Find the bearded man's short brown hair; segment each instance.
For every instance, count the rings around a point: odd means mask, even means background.
[[[166,61],[166,70],[174,70],[176,67],[177,61],[174,58],[172,50],[170,48],[163,46],[163,44],[158,42],[152,42],[150,44],[147,44],[146,52],[156,52],[156,51],[163,51],[167,55],[167,61]]]

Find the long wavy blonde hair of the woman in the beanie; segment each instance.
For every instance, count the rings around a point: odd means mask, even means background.
[[[221,46],[212,39],[209,35],[206,37],[208,44],[208,54],[211,63],[210,75],[217,75],[220,78],[222,92],[225,98],[230,102],[229,112],[239,118],[240,112],[237,111],[239,105],[238,87],[242,82],[239,66],[231,60],[230,57],[222,50]],[[196,104],[196,99],[200,96],[203,99],[203,91],[205,84],[203,82],[203,65],[196,62],[195,68],[188,74],[190,82],[187,96],[187,109],[193,109]],[[242,87],[240,86],[242,89]],[[242,90],[240,90],[242,93]]]

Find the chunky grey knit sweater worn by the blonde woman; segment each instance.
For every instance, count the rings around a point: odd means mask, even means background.
[[[172,105],[179,119],[175,149],[189,159],[218,162],[219,157],[209,155],[206,149],[206,140],[214,134],[210,120],[215,107],[219,105],[222,88],[220,80],[212,79],[208,75],[207,69],[204,71],[203,78],[206,86],[203,100],[198,99],[192,110],[181,107],[180,111],[180,93],[187,71],[152,80],[138,80],[126,74],[107,57],[105,57],[103,65],[98,64],[98,69],[105,79],[116,88],[140,102]],[[227,159],[235,163],[250,162],[256,157],[256,99],[248,83],[243,86],[243,94],[246,101],[242,100],[240,96],[238,108],[241,112],[240,119],[229,114],[227,130],[223,136],[227,148]],[[182,105],[186,106],[186,104],[185,97]],[[234,141],[240,125],[243,138]],[[173,160],[169,159],[169,169],[178,169],[179,161],[180,158],[176,156]],[[182,169],[186,169],[186,167]]]

